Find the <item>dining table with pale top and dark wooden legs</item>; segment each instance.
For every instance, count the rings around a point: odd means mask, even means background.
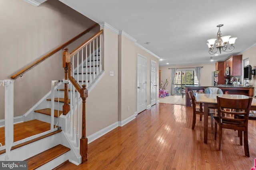
[[[221,98],[228,99],[246,99],[250,98],[249,96],[241,95],[241,94],[204,94],[204,93],[196,93],[196,102],[202,103],[204,106],[204,143],[207,144],[207,136],[208,136],[208,108],[218,108],[217,104],[217,96]],[[252,98],[251,109],[252,111],[256,110],[256,98]],[[250,120],[256,120],[256,114],[249,114]]]

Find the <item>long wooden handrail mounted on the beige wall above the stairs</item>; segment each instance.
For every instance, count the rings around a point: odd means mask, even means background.
[[[16,79],[19,76],[21,76],[22,74],[24,74],[25,72],[27,72],[28,70],[32,69],[34,66],[38,65],[39,63],[41,63],[42,61],[44,61],[45,59],[49,58],[50,56],[54,55],[55,53],[57,53],[58,51],[60,51],[61,49],[63,49],[64,47],[66,47],[67,45],[69,45],[70,43],[72,43],[73,41],[77,40],[78,38],[82,37],[84,34],[88,33],[90,30],[92,30],[94,27],[98,26],[99,24],[96,23],[94,25],[92,25],[91,27],[89,27],[88,29],[86,29],[85,31],[83,31],[82,33],[78,34],[76,37],[70,39],[69,41],[67,41],[66,43],[62,44],[60,47],[54,49],[52,52],[48,53],[47,55],[45,55],[44,57],[42,57],[41,59],[39,59],[38,61],[34,62],[33,64],[27,66],[26,68],[24,68],[23,70],[21,70],[20,72],[14,74],[13,76],[11,76],[12,79]]]

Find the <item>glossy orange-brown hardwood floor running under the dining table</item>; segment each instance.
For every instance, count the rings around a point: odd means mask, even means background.
[[[256,158],[256,121],[249,120],[250,158],[239,145],[237,131],[223,130],[222,151],[214,134],[203,142],[203,121],[192,108],[156,104],[88,145],[88,161],[61,170],[249,170]],[[210,119],[210,118],[209,118]],[[210,132],[210,121],[208,131]]]

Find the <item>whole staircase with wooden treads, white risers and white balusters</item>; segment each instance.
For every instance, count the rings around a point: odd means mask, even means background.
[[[90,93],[104,76],[100,47],[94,49],[94,45],[98,44],[98,39],[96,42],[93,40],[92,43],[93,47],[91,47],[90,43],[88,51],[87,46],[84,47],[86,48],[84,54],[83,51],[78,51],[77,60],[75,56],[70,57],[72,77],[78,82],[79,86],[86,84],[88,93]],[[79,61],[78,58],[83,55],[86,57],[84,59],[82,57],[82,60]],[[74,66],[75,64],[76,66]],[[67,101],[70,105],[70,111],[68,111],[66,115],[63,115],[64,111],[62,106],[65,102],[65,84],[68,84],[69,98]],[[5,153],[4,150],[0,150],[0,160],[11,161],[20,160],[22,158],[22,160],[28,161],[29,170],[58,168],[65,162],[71,162],[76,165],[83,162],[84,155],[80,155],[81,139],[79,140],[79,138],[81,134],[85,136],[85,133],[78,131],[78,125],[81,123],[79,122],[80,117],[82,116],[80,116],[81,113],[77,114],[77,112],[80,112],[78,108],[82,104],[82,100],[79,90],[76,88],[77,86],[75,87],[68,80],[52,81],[52,90],[23,115],[24,123],[33,121],[35,121],[36,125],[39,125],[41,122],[46,123],[48,130],[40,134],[32,134],[31,137],[25,137],[22,140],[14,140],[10,153]],[[15,124],[15,126],[21,125],[18,123]],[[26,129],[26,127],[23,128]],[[42,128],[42,126],[39,126],[39,129],[40,128]],[[34,129],[30,129],[29,132],[32,131],[34,131]],[[25,132],[23,131],[23,133]],[[14,138],[15,136],[16,134],[14,133]]]

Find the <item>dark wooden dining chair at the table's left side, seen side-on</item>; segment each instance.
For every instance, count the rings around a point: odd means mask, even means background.
[[[189,91],[188,92],[188,96],[190,98],[190,102],[192,103],[192,108],[193,108],[193,120],[192,120],[192,129],[195,129],[195,125],[196,125],[196,115],[200,115],[200,121],[202,120],[201,116],[204,115],[204,111],[202,109],[202,104],[200,104],[200,107],[197,108],[196,107],[196,99],[195,99],[195,96],[194,96],[194,93],[192,91]],[[211,119],[213,120],[213,116],[212,114],[208,113],[209,116],[211,116]],[[212,121],[213,122],[213,121]],[[213,131],[213,123],[211,124],[211,127],[212,127],[212,131]]]

